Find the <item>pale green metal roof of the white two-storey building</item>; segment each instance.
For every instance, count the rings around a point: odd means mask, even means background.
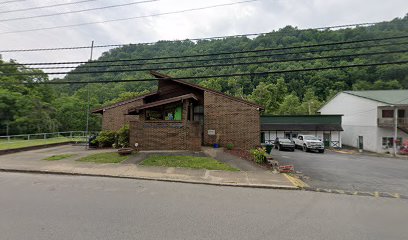
[[[369,90],[369,91],[344,91],[344,93],[367,98],[387,104],[408,104],[408,89],[405,90]]]

